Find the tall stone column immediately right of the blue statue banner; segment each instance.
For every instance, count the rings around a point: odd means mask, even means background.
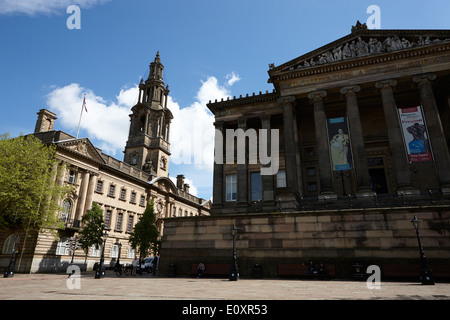
[[[356,93],[360,90],[361,88],[359,86],[344,87],[341,89],[341,93],[345,95],[347,102],[347,119],[351,138],[350,143],[353,151],[353,166],[356,175],[356,192],[359,196],[369,196],[373,195],[373,192],[370,189],[369,168],[367,166],[364,136],[356,98]]]

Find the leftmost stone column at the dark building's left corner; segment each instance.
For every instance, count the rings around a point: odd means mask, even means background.
[[[213,205],[212,208],[223,206],[223,122],[214,122],[216,128],[214,142],[214,173],[213,173]]]

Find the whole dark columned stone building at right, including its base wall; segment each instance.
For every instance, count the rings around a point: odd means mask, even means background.
[[[424,222],[427,258],[450,265],[450,31],[357,24],[268,74],[273,92],[208,104],[216,127],[211,217],[166,219],[161,272],[230,264],[233,225],[243,230],[242,276],[255,264],[277,276],[278,264],[310,259],[335,265],[338,277],[356,261],[418,265],[414,215]],[[264,130],[279,139],[261,144]],[[238,133],[244,143],[229,144]],[[271,164],[264,149],[279,152],[273,175],[262,174]]]

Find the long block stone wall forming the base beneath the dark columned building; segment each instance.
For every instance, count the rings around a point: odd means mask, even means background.
[[[450,207],[428,206],[169,218],[159,272],[174,264],[178,276],[188,276],[200,261],[231,263],[232,225],[243,230],[236,237],[241,277],[251,277],[255,264],[276,277],[279,263],[309,260],[334,264],[343,278],[357,261],[419,264],[414,215],[428,261],[450,265]]]

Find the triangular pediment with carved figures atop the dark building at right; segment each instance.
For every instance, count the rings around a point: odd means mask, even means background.
[[[386,55],[401,50],[450,42],[450,30],[380,30],[353,27],[353,32],[280,66],[271,66],[271,77],[334,63]]]

